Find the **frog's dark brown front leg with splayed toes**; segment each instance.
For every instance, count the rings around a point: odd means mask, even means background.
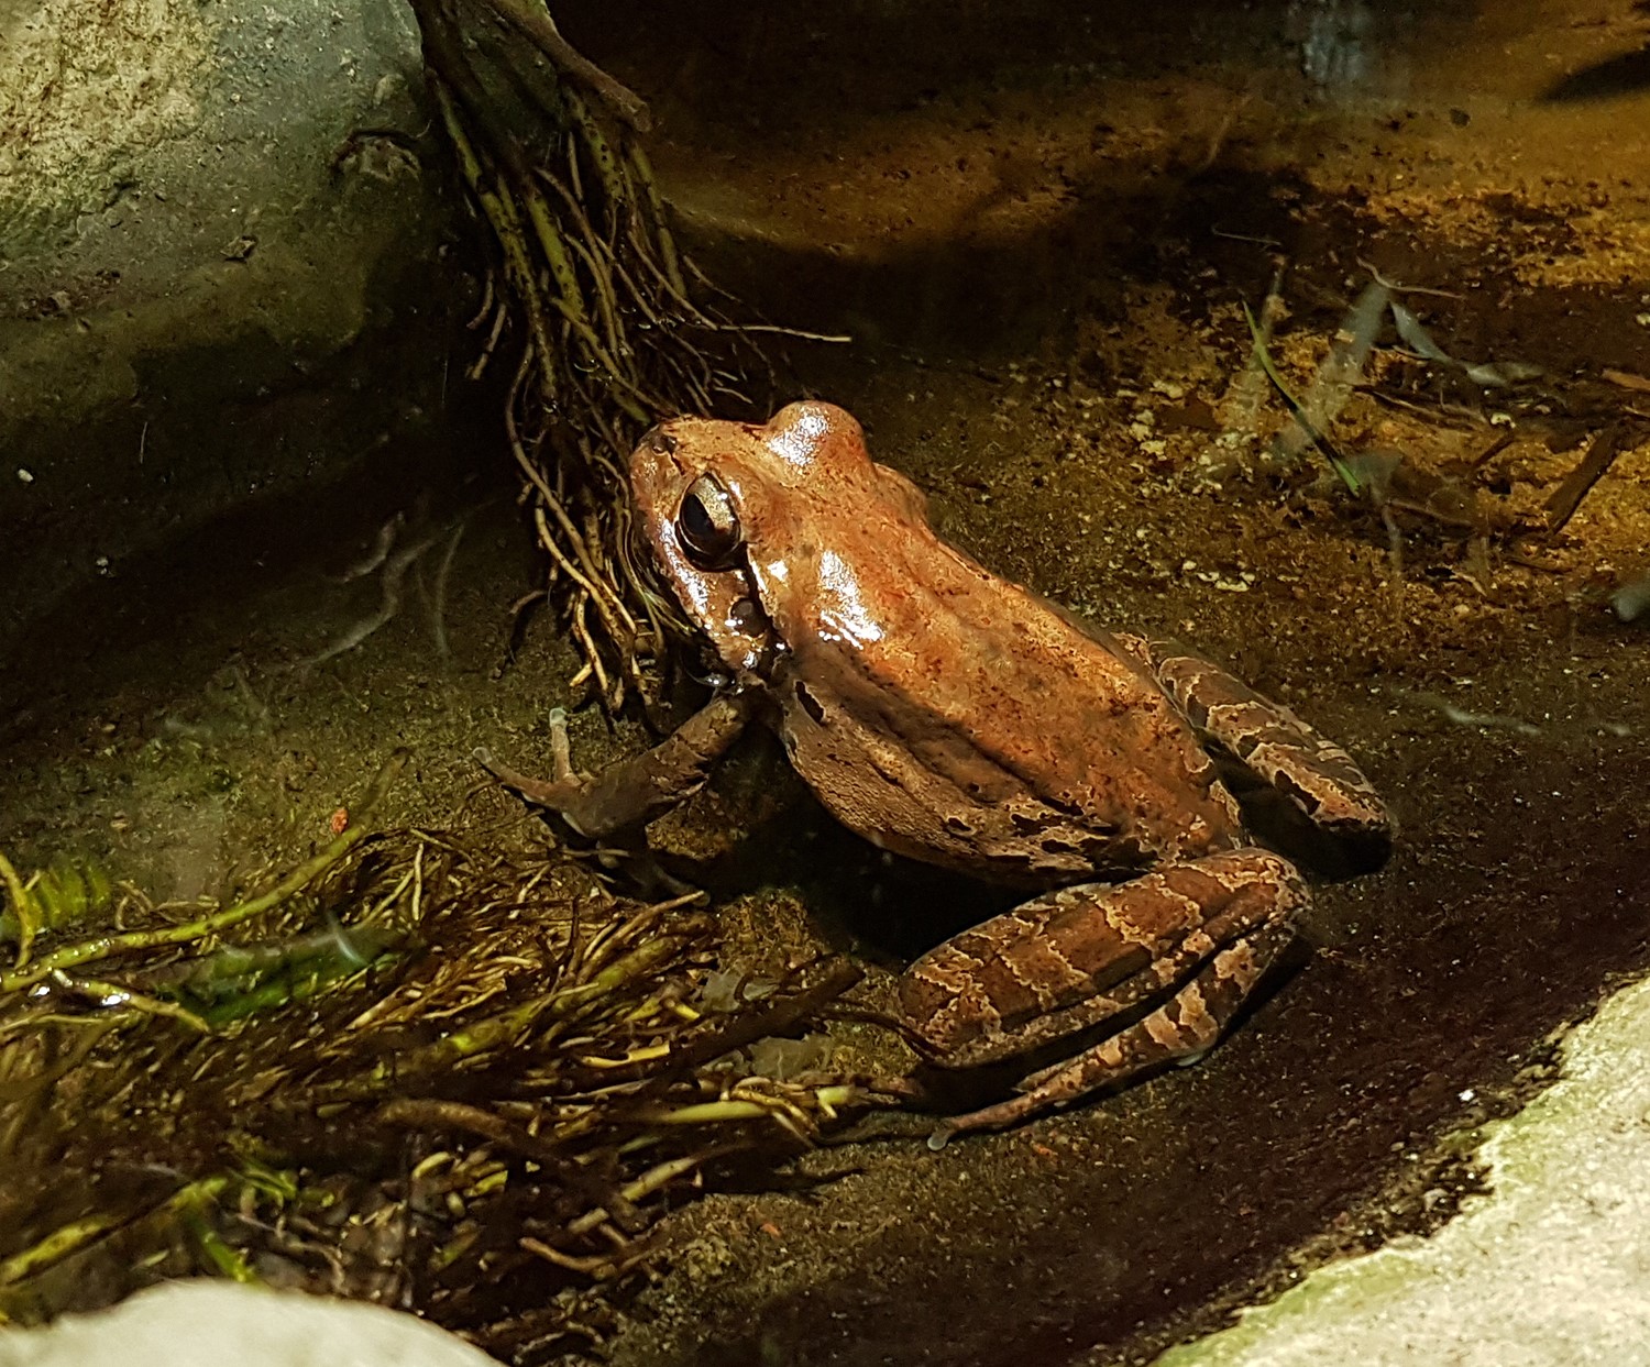
[[[619,760],[596,777],[573,772],[568,716],[559,707],[549,716],[554,778],[516,773],[480,747],[475,760],[528,801],[548,806],[573,829],[599,839],[644,826],[703,788],[716,760],[749,724],[757,701],[749,691],[718,694],[652,750]]]

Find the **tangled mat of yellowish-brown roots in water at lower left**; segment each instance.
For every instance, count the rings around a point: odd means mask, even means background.
[[[549,1352],[706,1171],[868,1100],[764,1045],[853,968],[729,993],[701,899],[614,897],[495,806],[351,824],[226,907],[109,887],[119,930],[94,938],[13,881],[38,955],[0,979],[7,1321],[216,1271]]]

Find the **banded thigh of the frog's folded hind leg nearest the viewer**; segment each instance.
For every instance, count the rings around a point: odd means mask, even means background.
[[[1307,900],[1295,867],[1254,848],[1063,887],[912,963],[901,1012],[947,1067],[1016,1057],[1188,983],[1257,927],[1287,942]]]

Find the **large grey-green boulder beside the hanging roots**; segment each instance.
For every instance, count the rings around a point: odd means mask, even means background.
[[[0,658],[73,587],[431,427],[464,277],[421,96],[401,5],[0,12]]]

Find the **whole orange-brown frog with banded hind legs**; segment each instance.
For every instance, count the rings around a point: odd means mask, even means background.
[[[832,404],[766,425],[665,422],[630,480],[726,683],[594,780],[564,745],[554,782],[500,772],[601,836],[695,792],[761,719],[866,839],[1036,894],[911,965],[901,1012],[944,1067],[1082,1044],[940,1138],[1214,1044],[1307,904],[1295,867],[1244,833],[1223,773],[1384,853],[1386,813],[1345,750],[1224,669],[1099,630],[947,546]]]

